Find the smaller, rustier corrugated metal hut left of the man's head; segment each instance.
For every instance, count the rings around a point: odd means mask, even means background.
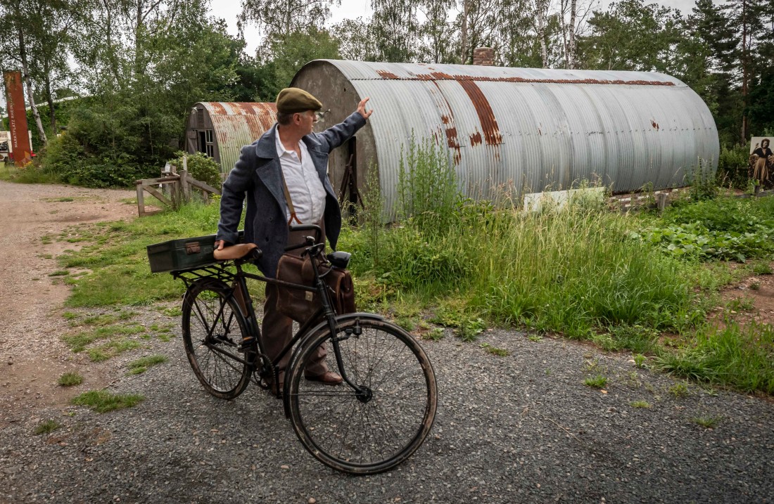
[[[242,145],[252,144],[276,121],[275,104],[204,101],[188,116],[186,151],[204,152],[227,174],[234,168]]]

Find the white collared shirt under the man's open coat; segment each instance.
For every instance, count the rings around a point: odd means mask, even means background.
[[[298,142],[301,159],[295,151],[286,150],[279,140],[279,128],[275,126],[275,138],[279,165],[282,166],[285,182],[288,186],[293,209],[301,223],[316,224],[323,219],[325,213],[325,188],[320,182],[320,176],[314,168],[314,163],[303,141]],[[285,208],[286,218],[290,219],[290,209]],[[291,224],[297,224],[295,221]]]

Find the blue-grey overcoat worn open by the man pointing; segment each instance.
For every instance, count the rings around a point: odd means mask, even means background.
[[[341,232],[341,209],[327,175],[328,154],[347,141],[365,125],[365,118],[354,112],[322,133],[303,137],[309,149],[314,168],[325,188],[325,234],[330,247],[335,250]],[[241,148],[239,160],[223,183],[221,196],[221,221],[217,223],[215,240],[238,242],[238,225],[242,203],[247,193],[245,215],[245,242],[255,243],[263,251],[257,262],[265,276],[274,278],[277,261],[282,256],[288,240],[285,194],[282,168],[276,148],[276,124],[251,145]]]

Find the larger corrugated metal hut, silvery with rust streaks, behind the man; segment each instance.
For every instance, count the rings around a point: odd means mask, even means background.
[[[684,185],[699,159],[717,168],[717,128],[704,101],[663,73],[315,60],[292,86],[330,107],[317,129],[371,97],[368,125],[330,158],[331,182],[362,189],[370,162],[392,209],[401,148],[412,131],[446,145],[465,192],[512,183],[539,192],[601,179],[617,192]],[[348,161],[355,170],[348,174]]]

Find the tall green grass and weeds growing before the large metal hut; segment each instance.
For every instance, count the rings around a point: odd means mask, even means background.
[[[422,298],[461,296],[492,322],[573,337],[607,325],[694,321],[684,265],[629,240],[627,216],[583,197],[539,213],[508,198],[474,203],[437,151],[429,142],[409,146],[402,220],[378,236],[378,250],[370,237],[346,240],[366,252],[355,254],[356,270]]]

